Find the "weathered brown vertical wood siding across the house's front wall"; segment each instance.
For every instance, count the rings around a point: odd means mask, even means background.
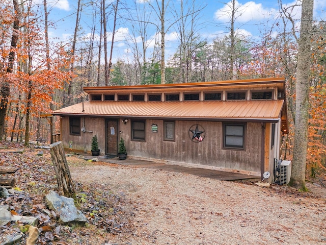
[[[84,118],[80,118],[83,127]],[[151,125],[156,124],[157,133],[151,131]],[[193,142],[189,138],[188,130],[193,125],[200,125],[205,130],[202,142]],[[260,174],[261,165],[261,123],[248,122],[246,127],[246,150],[222,149],[222,122],[219,121],[175,121],[175,141],[164,140],[164,121],[146,120],[146,141],[131,140],[131,120],[126,124],[119,119],[120,137],[125,140],[129,157],[157,159],[173,163],[207,166],[216,169],[242,170]],[[96,134],[101,154],[105,153],[105,119],[85,117],[85,129],[80,136],[69,134],[69,117],[62,117],[63,143],[69,149],[77,151],[90,151],[92,137]],[[85,144],[84,144],[85,139]]]

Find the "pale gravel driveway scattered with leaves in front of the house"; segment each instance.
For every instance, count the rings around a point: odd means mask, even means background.
[[[105,244],[326,244],[325,188],[219,181],[139,167],[70,167],[74,181],[128,200],[133,232]]]

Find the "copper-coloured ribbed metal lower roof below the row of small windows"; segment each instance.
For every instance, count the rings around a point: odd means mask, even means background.
[[[92,101],[72,105],[53,115],[166,119],[247,119],[271,121],[281,116],[279,101],[116,102]],[[83,111],[84,108],[84,111]]]

